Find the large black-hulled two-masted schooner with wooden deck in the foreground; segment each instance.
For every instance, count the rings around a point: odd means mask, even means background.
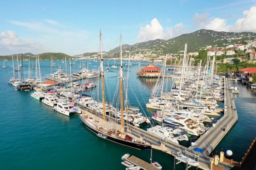
[[[101,86],[102,86],[102,104],[103,104],[103,119],[94,115],[89,110],[84,111],[80,115],[81,120],[84,122],[85,126],[94,132],[98,136],[104,136],[105,139],[115,142],[117,144],[122,144],[124,146],[132,147],[135,149],[147,150],[151,148],[151,145],[142,140],[139,137],[133,136],[124,130],[124,108],[123,108],[123,65],[122,65],[122,36],[120,37],[120,105],[121,105],[121,125],[117,122],[108,122],[105,110],[105,92],[104,92],[104,72],[103,72],[103,57],[102,57],[102,39],[100,31],[100,49],[101,49],[101,60],[100,60],[100,76],[101,76]]]

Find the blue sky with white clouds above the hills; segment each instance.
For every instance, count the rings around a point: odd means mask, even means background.
[[[199,29],[256,32],[256,0],[238,1],[4,1],[0,55],[62,52],[78,55],[123,44],[171,39]]]

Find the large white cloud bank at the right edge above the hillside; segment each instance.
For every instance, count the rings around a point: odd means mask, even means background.
[[[227,19],[211,18],[209,19],[206,13],[196,13],[193,18],[193,26],[199,28],[210,29],[214,31],[226,32],[256,32],[256,6],[252,6],[248,11],[244,11],[244,17],[237,19],[235,25],[227,25]]]

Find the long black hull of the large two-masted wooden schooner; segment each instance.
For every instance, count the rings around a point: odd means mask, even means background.
[[[81,120],[84,122],[85,126],[91,130],[93,133],[95,133],[96,135],[101,133],[99,130],[97,129],[94,129],[92,126],[90,126],[89,124],[87,124],[81,117],[80,115],[80,118]],[[115,142],[117,144],[121,144],[121,145],[124,145],[124,146],[128,146],[128,147],[131,147],[131,148],[134,148],[134,149],[139,149],[139,150],[148,150],[151,148],[151,145],[148,145],[148,144],[137,144],[137,143],[134,143],[134,142],[129,142],[129,141],[125,141],[125,140],[122,140],[122,139],[118,139],[116,137],[112,137],[112,136],[109,136],[108,134],[105,134],[105,136],[107,136],[105,139],[111,141],[111,142]]]

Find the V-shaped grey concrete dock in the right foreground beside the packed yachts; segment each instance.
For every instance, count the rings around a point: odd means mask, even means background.
[[[180,144],[173,143],[169,140],[164,141],[162,138],[157,137],[154,134],[144,129],[137,128],[135,126],[130,127],[129,133],[131,133],[134,136],[142,137],[144,140],[152,144],[153,149],[166,152],[174,156],[174,158],[177,155],[177,152],[182,152],[184,154],[186,150],[186,155],[189,158],[195,159],[199,162],[199,168],[210,170],[211,160],[213,159],[212,157],[209,156],[210,153],[220,143],[223,137],[225,137],[225,135],[228,133],[228,131],[232,128],[232,126],[236,123],[238,119],[237,112],[234,109],[236,108],[236,106],[233,100],[233,95],[229,89],[229,81],[228,79],[226,79],[224,91],[224,116],[218,122],[215,123],[214,127],[209,128],[206,133],[199,137],[199,139],[195,142],[194,146],[190,146],[189,148],[187,148]],[[102,113],[98,113],[98,115],[100,117],[103,117]],[[107,117],[109,116],[107,115]],[[194,148],[202,148],[204,152],[195,152]],[[234,165],[219,161],[218,167],[228,170],[234,167]]]

